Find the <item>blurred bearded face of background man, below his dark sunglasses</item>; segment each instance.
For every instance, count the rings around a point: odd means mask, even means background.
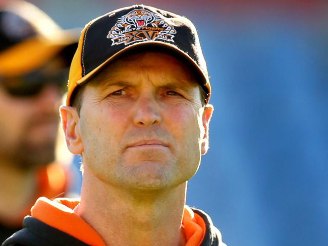
[[[42,71],[53,75],[62,68],[63,61],[55,59]],[[12,95],[8,88],[17,91],[15,83],[0,85],[0,163],[29,169],[54,160],[62,90],[47,82],[42,81],[42,89],[29,96]]]

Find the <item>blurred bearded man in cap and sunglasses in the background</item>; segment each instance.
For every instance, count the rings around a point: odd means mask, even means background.
[[[67,188],[54,163],[58,105],[77,36],[35,6],[0,9],[0,242],[22,228],[40,196]]]

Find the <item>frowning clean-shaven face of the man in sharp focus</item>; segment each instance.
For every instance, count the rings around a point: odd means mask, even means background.
[[[191,178],[200,163],[212,108],[179,60],[133,55],[84,88],[78,127],[83,161],[104,182],[157,190]],[[207,135],[206,135],[207,136]]]

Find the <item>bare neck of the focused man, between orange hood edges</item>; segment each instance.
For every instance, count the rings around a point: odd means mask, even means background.
[[[181,222],[186,186],[184,182],[162,191],[131,192],[101,182],[85,169],[81,203],[75,212],[106,245],[180,246],[185,244]]]

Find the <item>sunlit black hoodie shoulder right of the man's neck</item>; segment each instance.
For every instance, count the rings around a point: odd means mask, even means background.
[[[221,232],[214,226],[209,215],[200,209],[194,207],[190,208],[204,220],[206,225],[205,236],[200,246],[227,246],[227,244],[222,241]]]

